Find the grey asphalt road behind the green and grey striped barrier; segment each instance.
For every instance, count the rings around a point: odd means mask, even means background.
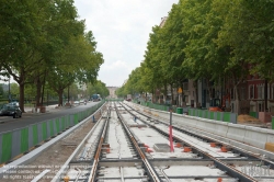
[[[31,124],[39,123],[43,121],[61,117],[64,115],[73,114],[80,111],[84,111],[88,107],[92,107],[99,102],[89,102],[87,105],[76,105],[72,107],[62,109],[50,109],[46,113],[23,113],[21,118],[13,118],[12,116],[0,116],[0,133],[5,133],[9,130],[14,130],[16,128],[22,128]]]

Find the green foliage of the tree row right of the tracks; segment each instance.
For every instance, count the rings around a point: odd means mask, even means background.
[[[202,78],[230,78],[236,87],[249,73],[273,81],[273,20],[274,1],[180,0],[164,25],[152,27],[139,77],[134,70],[117,93]]]

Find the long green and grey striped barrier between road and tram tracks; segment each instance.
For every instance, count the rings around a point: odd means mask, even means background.
[[[0,133],[0,164],[27,152],[94,113],[104,101],[75,114],[43,121],[11,132]]]

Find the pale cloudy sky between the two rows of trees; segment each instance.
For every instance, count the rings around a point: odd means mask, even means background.
[[[98,79],[122,87],[144,60],[152,26],[168,16],[179,0],[75,0],[79,19],[92,31],[104,64]]]

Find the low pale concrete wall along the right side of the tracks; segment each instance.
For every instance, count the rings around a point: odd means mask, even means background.
[[[159,115],[159,117],[163,120],[167,120],[167,121],[170,120],[169,112],[147,109],[145,106],[137,105],[137,104],[135,105],[132,104],[132,106],[137,106],[139,107],[139,110],[145,110],[151,113],[152,115]],[[199,116],[205,116],[203,115],[204,113],[203,112],[201,113],[201,111],[193,110],[193,109],[190,109],[189,113],[191,115],[182,115],[182,114],[173,113],[172,114],[173,123],[179,124],[181,126],[186,126],[186,127],[189,126],[189,127],[203,129],[210,134],[216,134],[216,135],[229,138],[229,139],[233,139],[241,144],[247,144],[247,145],[254,146],[261,149],[267,149],[269,151],[274,151],[274,130],[272,129],[238,125],[238,124],[232,124],[228,122],[219,122],[217,120],[202,118]],[[207,116],[208,116],[208,113],[207,113]],[[215,112],[215,113],[218,113],[218,112]],[[195,115],[195,116],[192,116],[192,115]],[[209,116],[212,117],[210,114]],[[219,115],[216,114],[215,116],[217,118],[220,118],[221,114]],[[228,117],[228,116],[225,116],[225,117]],[[272,120],[274,123],[273,117]]]

